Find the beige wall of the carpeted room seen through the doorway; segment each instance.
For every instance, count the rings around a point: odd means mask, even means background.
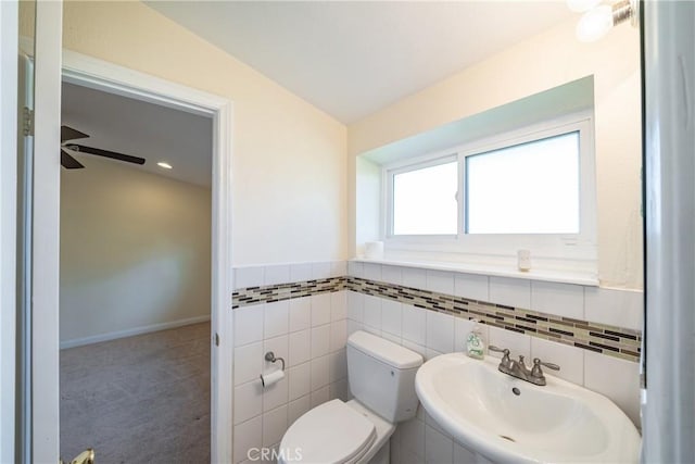
[[[61,173],[61,344],[210,316],[210,189],[80,162]]]

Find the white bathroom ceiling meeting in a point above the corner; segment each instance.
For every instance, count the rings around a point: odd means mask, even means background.
[[[564,0],[146,3],[345,124],[572,14]]]

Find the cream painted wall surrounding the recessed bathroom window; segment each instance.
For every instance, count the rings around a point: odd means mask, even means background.
[[[621,25],[595,43],[574,37],[577,17],[517,43],[349,126],[350,220],[355,156],[568,81],[594,76],[598,277],[602,286],[641,289],[640,37]],[[351,243],[358,244],[353,223]],[[351,250],[355,253],[355,250]]]

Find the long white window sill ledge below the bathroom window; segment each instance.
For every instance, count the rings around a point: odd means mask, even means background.
[[[527,280],[542,280],[559,284],[573,284],[589,287],[598,287],[596,275],[559,269],[531,269],[528,272],[506,266],[485,266],[480,264],[450,263],[438,261],[406,261],[394,259],[367,259],[354,258],[350,260],[356,263],[374,263],[389,266],[415,267],[420,269],[445,271],[464,274],[478,274],[491,277],[508,277]]]

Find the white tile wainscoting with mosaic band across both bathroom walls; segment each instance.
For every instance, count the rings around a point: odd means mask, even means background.
[[[641,292],[356,262],[238,268],[236,277],[235,462],[249,447],[277,444],[309,407],[348,399],[353,331],[427,360],[462,351],[469,318],[481,321],[486,342],[559,364],[559,377],[610,398],[639,425]],[[257,375],[271,368],[262,360],[269,349],[289,356],[289,387],[264,392]],[[395,462],[463,462],[467,452],[421,407],[391,447]]]

